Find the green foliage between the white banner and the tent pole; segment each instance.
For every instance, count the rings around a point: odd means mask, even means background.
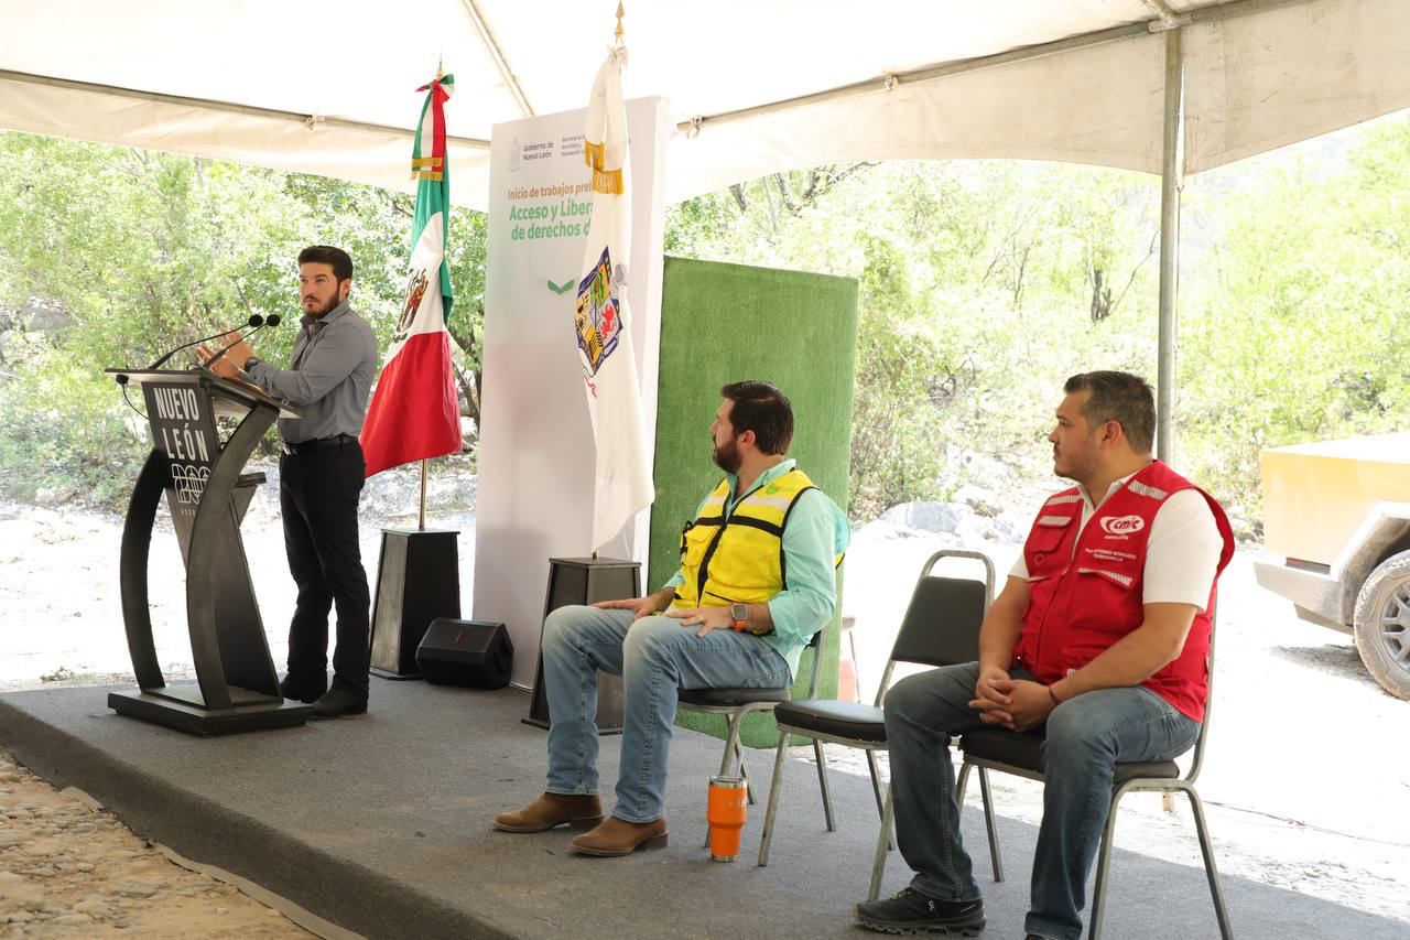
[[[667,230],[697,257],[859,279],[853,518],[948,495],[957,449],[1043,474],[1069,374],[1153,373],[1159,181],[974,161],[809,174],[836,181],[825,198],[790,202],[798,181],[770,176],[673,207]]]

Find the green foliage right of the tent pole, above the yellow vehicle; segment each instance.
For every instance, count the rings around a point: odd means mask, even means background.
[[[1407,154],[1402,119],[1345,168],[1266,159],[1253,185],[1220,193],[1183,303],[1177,414],[1187,463],[1251,512],[1262,449],[1407,428]],[[1211,189],[1249,176],[1222,172]]]

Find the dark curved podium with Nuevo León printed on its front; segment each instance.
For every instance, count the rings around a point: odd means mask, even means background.
[[[269,656],[240,521],[262,473],[241,474],[275,418],[300,411],[254,385],[207,370],[107,370],[142,390],[152,429],[123,526],[123,624],[138,692],[113,692],[118,714],[192,734],[223,734],[303,724],[312,706],[285,701]],[[216,418],[238,421],[224,442]],[[196,682],[166,685],[152,642],[147,560],[157,504],[166,494],[186,563],[186,622]]]

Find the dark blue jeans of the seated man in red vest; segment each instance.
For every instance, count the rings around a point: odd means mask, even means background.
[[[1017,668],[1010,675],[1032,679]],[[908,676],[885,696],[897,844],[916,872],[911,885],[939,900],[980,895],[960,841],[949,754],[952,734],[987,727],[969,707],[977,680],[979,663],[945,666]],[[1089,692],[1053,709],[1042,748],[1048,783],[1025,932],[1081,937],[1087,875],[1111,809],[1114,765],[1173,758],[1198,731],[1197,721],[1141,686]]]

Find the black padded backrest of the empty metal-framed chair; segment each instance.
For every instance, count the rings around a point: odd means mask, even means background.
[[[967,558],[984,563],[984,580],[973,577],[932,576],[935,563],[945,558]],[[979,659],[979,628],[994,600],[994,562],[981,552],[942,549],[921,569],[911,593],[911,603],[901,618],[901,629],[891,646],[881,685],[877,687],[877,707],[891,685],[897,662],[926,666],[952,666]]]

